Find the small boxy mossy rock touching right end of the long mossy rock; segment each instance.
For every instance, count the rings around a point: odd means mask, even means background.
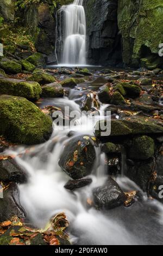
[[[42,86],[42,97],[55,98],[63,96],[64,88],[58,82],[53,82],[52,84]]]

